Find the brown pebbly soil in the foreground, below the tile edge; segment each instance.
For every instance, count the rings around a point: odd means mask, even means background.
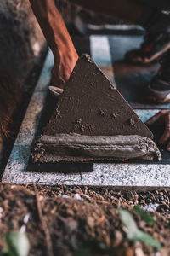
[[[69,197],[68,197],[69,196]],[[26,214],[29,255],[170,255],[170,192],[121,192],[75,186],[40,187],[0,184],[0,251],[3,235],[20,230]],[[133,213],[139,229],[162,245],[156,249],[128,241],[117,209],[155,204],[147,224]],[[154,205],[153,205],[154,206]]]

